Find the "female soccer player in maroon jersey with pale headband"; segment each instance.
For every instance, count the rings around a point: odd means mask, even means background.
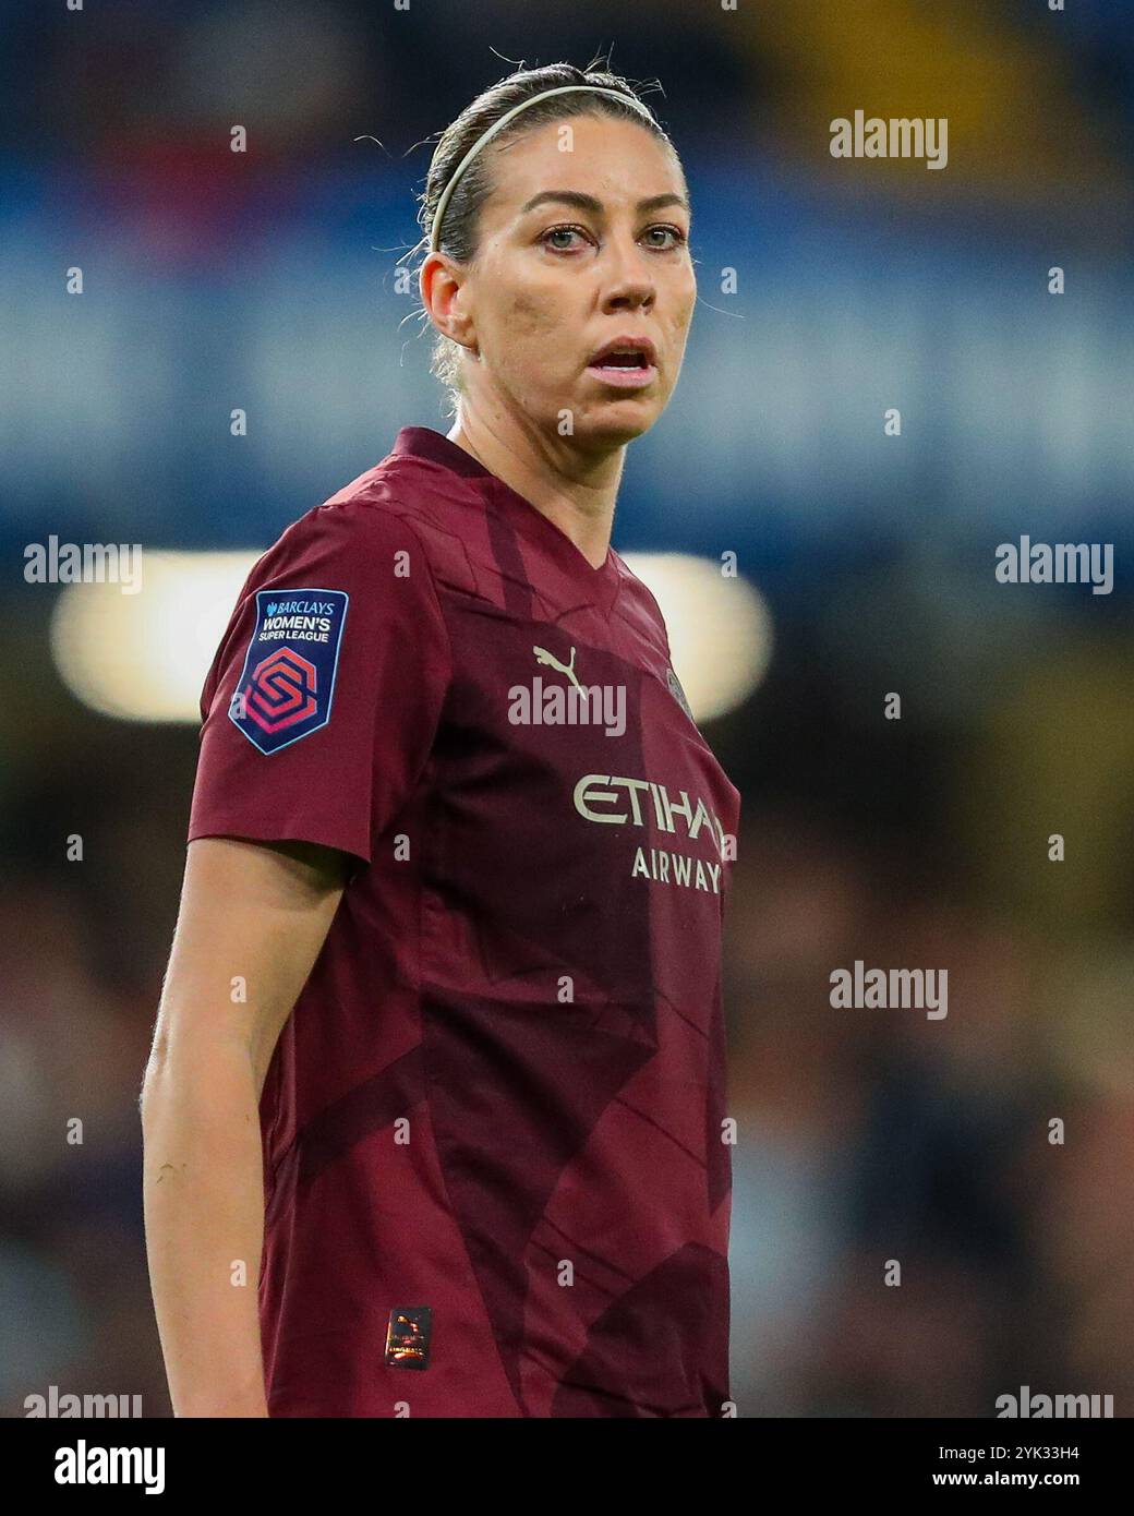
[[[444,132],[421,221],[455,424],[284,532],[202,696],[143,1090],[173,1405],[717,1416],[738,794],[609,547],[688,191],[558,64]]]

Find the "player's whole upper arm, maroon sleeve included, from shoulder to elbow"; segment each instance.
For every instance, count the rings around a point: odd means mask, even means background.
[[[262,1082],[349,870],[426,766],[450,673],[429,561],[394,512],[320,506],[256,562],[205,684],[155,1058],[237,1038]]]

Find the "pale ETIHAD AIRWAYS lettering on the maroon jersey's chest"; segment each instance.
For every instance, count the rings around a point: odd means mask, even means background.
[[[720,817],[697,797],[696,808],[688,790],[678,790],[673,799],[664,784],[652,779],[626,779],[620,775],[585,773],[575,785],[575,810],[588,822],[609,826],[649,826],[659,832],[696,841],[702,831],[713,838],[717,863],[690,858],[688,854],[666,847],[638,847],[634,854],[631,878],[656,879],[658,884],[681,884],[691,890],[720,894],[722,863],[737,857],[737,840],[720,825]]]

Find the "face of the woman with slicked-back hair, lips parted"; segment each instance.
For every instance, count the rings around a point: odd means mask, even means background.
[[[640,437],[678,382],[697,293],[672,150],[632,121],[567,117],[505,143],[491,171],[452,305],[481,356],[465,361],[470,400],[584,449]],[[653,344],[629,384],[593,365],[616,338]]]

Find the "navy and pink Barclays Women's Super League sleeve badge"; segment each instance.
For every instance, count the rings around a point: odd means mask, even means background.
[[[347,619],[346,590],[258,590],[256,623],[229,720],[262,753],[330,720]]]

